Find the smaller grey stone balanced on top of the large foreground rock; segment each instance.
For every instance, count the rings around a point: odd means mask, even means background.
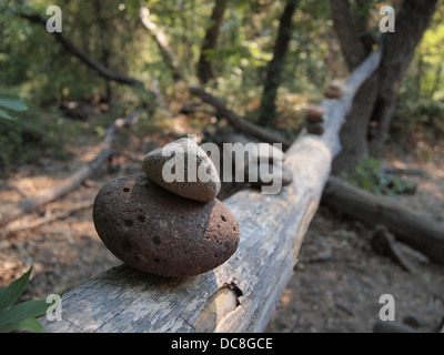
[[[221,191],[213,162],[186,138],[148,153],[142,168],[151,181],[183,197],[209,202]]]

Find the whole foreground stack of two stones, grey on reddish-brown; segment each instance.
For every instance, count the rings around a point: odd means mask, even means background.
[[[168,165],[172,159],[183,164]],[[145,175],[114,179],[95,196],[93,221],[105,246],[134,268],[170,277],[205,273],[230,258],[239,225],[215,199],[221,183],[206,153],[181,139],[150,152],[142,166]]]

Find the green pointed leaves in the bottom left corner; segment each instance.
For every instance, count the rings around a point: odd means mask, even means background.
[[[46,300],[33,300],[13,305],[24,291],[31,273],[32,266],[8,287],[0,290],[1,333],[19,329],[30,329],[36,333],[47,332],[37,317],[46,314],[52,304],[47,303]]]

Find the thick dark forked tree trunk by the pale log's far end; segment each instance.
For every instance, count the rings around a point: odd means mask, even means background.
[[[383,38],[383,58],[377,71],[356,94],[350,114],[341,130],[342,152],[333,162],[333,173],[353,173],[369,153],[381,156],[387,136],[400,84],[413,58],[416,45],[428,27],[437,0],[405,0],[395,14],[395,32]],[[349,69],[359,65],[369,45],[360,38],[350,11],[349,0],[332,0],[334,29]]]

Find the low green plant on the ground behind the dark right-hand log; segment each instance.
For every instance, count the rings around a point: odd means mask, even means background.
[[[343,173],[342,178],[354,186],[379,195],[407,193],[414,187],[412,182],[400,180],[393,174],[384,172],[381,166],[381,161],[374,158],[364,159],[361,164],[355,168],[353,175]]]

